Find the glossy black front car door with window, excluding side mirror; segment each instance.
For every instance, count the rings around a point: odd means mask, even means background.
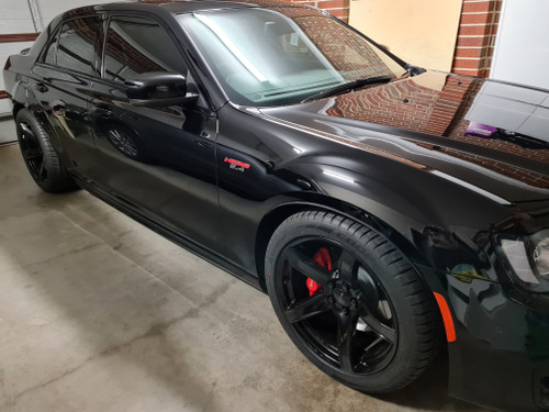
[[[219,252],[215,112],[203,99],[147,107],[126,97],[125,80],[161,71],[188,75],[171,32],[153,18],[112,15],[90,102],[97,146],[90,177],[126,207]]]

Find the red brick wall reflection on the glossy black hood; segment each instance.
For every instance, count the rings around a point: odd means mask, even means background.
[[[469,142],[549,164],[549,151],[528,149],[511,142],[464,134],[469,126],[469,121],[464,118],[480,87],[481,82],[478,80],[449,76],[442,90],[437,91],[408,79],[343,94],[326,113]],[[461,158],[534,187],[549,187],[549,179],[536,172],[437,145],[417,145]]]

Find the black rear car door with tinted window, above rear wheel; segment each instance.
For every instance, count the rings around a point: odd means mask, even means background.
[[[92,166],[88,103],[91,83],[99,77],[96,51],[102,26],[100,15],[61,23],[29,82],[65,167],[83,175]]]

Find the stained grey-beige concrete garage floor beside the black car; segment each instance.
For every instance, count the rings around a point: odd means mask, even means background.
[[[444,358],[371,398],[294,348],[269,299],[0,147],[0,411],[485,411]]]

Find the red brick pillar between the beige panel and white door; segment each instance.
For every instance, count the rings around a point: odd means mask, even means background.
[[[452,71],[488,77],[502,0],[463,0]]]

